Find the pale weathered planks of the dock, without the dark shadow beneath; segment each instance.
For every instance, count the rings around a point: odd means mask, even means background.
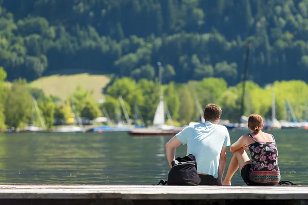
[[[308,199],[307,186],[0,185],[0,199]]]

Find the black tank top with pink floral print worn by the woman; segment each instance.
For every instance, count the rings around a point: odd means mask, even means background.
[[[278,167],[278,150],[273,136],[273,142],[256,141],[248,145],[252,157],[252,168],[249,179],[258,183],[279,183],[280,172]]]

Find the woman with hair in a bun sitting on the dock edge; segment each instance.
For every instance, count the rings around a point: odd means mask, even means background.
[[[280,181],[278,150],[274,136],[262,132],[263,119],[258,114],[248,118],[249,134],[241,136],[231,147],[234,155],[226,174],[223,186],[231,186],[231,178],[240,169],[246,185],[274,186]],[[251,160],[245,150],[249,150]]]

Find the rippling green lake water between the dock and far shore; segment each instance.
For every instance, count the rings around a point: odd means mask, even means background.
[[[231,142],[245,131],[230,131]],[[272,132],[282,180],[308,185],[308,130]],[[0,135],[0,182],[152,185],[166,180],[165,144],[171,136],[127,133]],[[177,149],[186,155],[186,146]],[[227,151],[227,166],[232,153]],[[226,173],[225,170],[225,173]],[[239,172],[233,185],[244,185]]]

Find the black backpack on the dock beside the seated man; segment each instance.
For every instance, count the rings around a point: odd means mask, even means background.
[[[201,179],[197,172],[196,157],[192,154],[183,158],[178,157],[171,162],[167,181],[160,180],[158,185],[169,186],[197,186]]]

